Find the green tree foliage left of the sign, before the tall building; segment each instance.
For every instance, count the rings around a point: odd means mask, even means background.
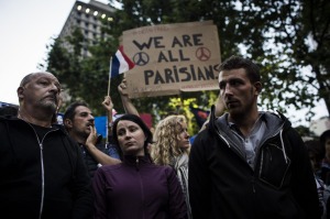
[[[85,100],[94,109],[96,116],[101,116],[105,114],[101,102],[108,92],[109,51],[116,51],[118,42],[113,43],[114,40],[111,39],[100,40],[97,45],[88,47],[91,56],[81,56],[84,41],[79,29],[65,40],[55,39],[46,59],[47,70],[59,79],[65,92],[69,96],[69,99],[64,101],[62,111],[74,100]],[[63,43],[68,43],[70,50],[65,48]],[[119,78],[113,78],[111,85],[119,83]],[[113,86],[110,88],[111,94],[116,94],[111,95],[113,101],[120,102],[117,88]]]

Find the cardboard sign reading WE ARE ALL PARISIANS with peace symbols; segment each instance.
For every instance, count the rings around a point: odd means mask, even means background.
[[[220,46],[211,21],[144,26],[123,32],[130,98],[219,89]]]

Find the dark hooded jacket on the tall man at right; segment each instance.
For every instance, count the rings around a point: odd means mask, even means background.
[[[211,119],[194,141],[189,198],[194,219],[317,219],[317,187],[301,138],[283,116],[264,112],[255,165],[228,127]]]

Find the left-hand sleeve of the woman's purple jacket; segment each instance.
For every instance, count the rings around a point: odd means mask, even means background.
[[[106,182],[105,172],[102,167],[98,168],[92,178],[92,190],[95,195],[94,219],[106,219],[107,218],[107,198],[106,198]]]

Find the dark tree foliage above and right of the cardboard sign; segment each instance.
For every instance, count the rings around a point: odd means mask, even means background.
[[[222,59],[242,54],[262,66],[264,109],[330,111],[330,2],[327,0],[121,0],[125,29],[212,20]],[[133,21],[125,22],[133,15]],[[118,26],[121,29],[121,25]],[[306,114],[307,119],[312,112]]]

